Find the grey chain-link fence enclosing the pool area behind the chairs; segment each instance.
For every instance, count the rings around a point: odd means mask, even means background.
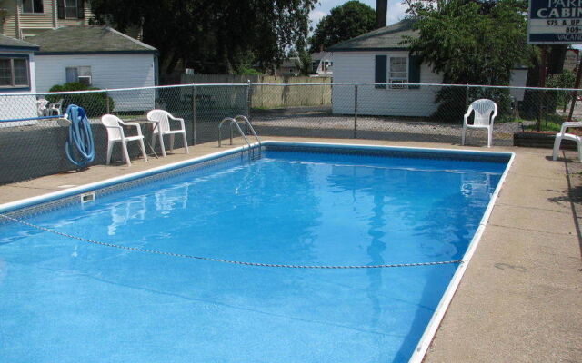
[[[574,91],[408,83],[217,83],[5,93],[0,94],[0,184],[75,170],[65,156],[68,127],[58,123],[69,104],[85,108],[95,136],[93,164],[104,164],[107,135],[100,119],[106,113],[139,122],[150,110],[164,109],[185,120],[188,145],[215,142],[218,123],[238,114],[248,116],[261,136],[459,143],[468,105],[488,98],[498,107],[493,144],[512,145],[516,134],[537,126],[559,130]],[[574,119],[580,116],[582,109],[575,108]],[[142,131],[147,152],[159,154],[159,143],[152,147],[151,127],[143,123]],[[125,134],[131,132],[135,128],[125,128]],[[487,132],[468,132],[467,144],[487,144]],[[181,138],[175,146],[183,146]],[[129,153],[140,155],[135,142],[129,144]],[[114,160],[121,160],[118,149]]]

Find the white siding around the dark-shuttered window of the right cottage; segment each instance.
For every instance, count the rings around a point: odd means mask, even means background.
[[[403,56],[407,52],[335,52],[334,83],[375,82],[376,55]],[[420,70],[421,83],[440,83],[442,76],[426,65]],[[333,113],[354,113],[354,87],[334,86]],[[426,117],[437,110],[435,93],[440,87],[419,89],[376,89],[373,85],[358,86],[359,114]]]

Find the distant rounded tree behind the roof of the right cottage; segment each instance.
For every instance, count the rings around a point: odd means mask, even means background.
[[[333,44],[371,32],[376,28],[376,11],[359,1],[348,1],[344,5],[331,9],[317,23],[316,30],[310,38],[311,53],[319,52]]]

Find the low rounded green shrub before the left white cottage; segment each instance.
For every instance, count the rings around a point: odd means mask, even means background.
[[[55,84],[49,92],[70,92],[70,91],[88,91],[98,90],[99,88],[90,87],[85,83],[65,83]],[[46,96],[49,103],[57,103],[63,99],[63,112],[69,104],[76,104],[85,109],[88,117],[99,117],[107,113],[107,99],[109,100],[109,110],[114,109],[114,102],[107,93],[70,93],[70,94],[50,94]]]

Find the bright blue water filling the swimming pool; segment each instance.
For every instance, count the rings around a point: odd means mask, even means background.
[[[25,221],[227,260],[458,260],[506,167],[336,153],[263,156]],[[457,266],[245,267],[0,224],[0,362],[406,362]]]

